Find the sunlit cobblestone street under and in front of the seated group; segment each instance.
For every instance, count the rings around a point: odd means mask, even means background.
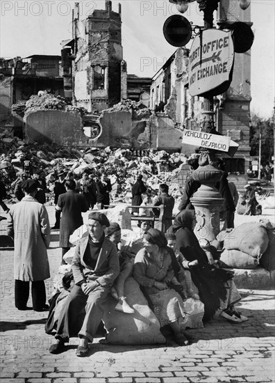
[[[53,226],[53,207],[48,208]],[[61,257],[57,231],[51,239],[48,297]],[[249,321],[238,325],[217,317],[204,329],[187,331],[190,346],[101,345],[97,338],[89,356],[78,358],[78,341],[72,338],[65,352],[53,355],[48,349],[55,339],[44,333],[47,312],[18,311],[14,306],[13,251],[3,250],[1,383],[275,382],[274,291],[240,292],[243,299],[237,307]]]

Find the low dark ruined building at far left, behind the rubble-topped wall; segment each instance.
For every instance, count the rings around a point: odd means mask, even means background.
[[[39,91],[64,96],[60,56],[35,54],[25,58],[0,58],[0,126],[22,136],[20,107]],[[12,104],[19,104],[12,113]]]

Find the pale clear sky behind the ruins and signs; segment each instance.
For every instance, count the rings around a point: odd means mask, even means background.
[[[227,1],[227,0],[224,0]],[[105,0],[78,1],[81,19],[95,9],[104,9]],[[163,24],[178,14],[168,0],[113,1],[117,12],[122,3],[122,46],[128,74],[153,77],[176,47],[163,36]],[[60,55],[60,42],[72,37],[72,0],[2,0],[0,56]],[[251,112],[261,118],[272,116],[274,109],[275,0],[251,0],[254,42],[251,47]],[[183,14],[190,22],[203,26],[203,13],[197,2]],[[187,47],[190,48],[191,41]]]

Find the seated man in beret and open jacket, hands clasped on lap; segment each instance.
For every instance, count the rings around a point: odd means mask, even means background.
[[[88,343],[93,341],[103,313],[112,307],[110,288],[119,274],[119,259],[116,245],[108,240],[104,230],[110,226],[105,214],[91,212],[88,216],[88,233],[76,244],[72,260],[75,286],[72,288],[58,319],[56,329],[57,343],[51,345],[49,352],[59,354],[85,306],[85,318],[78,331],[79,346],[76,356],[85,357],[89,353]]]

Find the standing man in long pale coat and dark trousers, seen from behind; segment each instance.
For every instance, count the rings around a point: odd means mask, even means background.
[[[15,307],[28,309],[31,281],[33,310],[44,311],[47,308],[44,280],[50,277],[47,248],[51,227],[46,208],[34,197],[35,180],[25,180],[21,187],[25,196],[10,208],[7,228],[8,235],[15,240]]]

